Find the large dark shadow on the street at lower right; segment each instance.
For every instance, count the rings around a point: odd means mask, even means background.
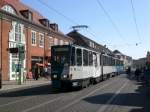
[[[114,101],[110,102],[108,105],[136,107],[135,109],[131,109],[129,112],[150,112],[150,84],[146,84],[143,81],[137,82],[134,77],[129,79],[134,81],[134,84],[138,85],[135,92],[120,93]],[[106,104],[114,94],[115,93],[106,93],[87,97],[83,100],[92,104]]]

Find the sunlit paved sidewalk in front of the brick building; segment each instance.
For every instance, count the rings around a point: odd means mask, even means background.
[[[50,80],[46,78],[39,78],[38,80],[26,80],[23,84],[18,85],[16,81],[3,81],[0,94],[5,92],[17,91],[22,89],[28,89],[32,87],[38,87],[50,84]]]

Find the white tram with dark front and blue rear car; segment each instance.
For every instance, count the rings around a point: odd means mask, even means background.
[[[122,61],[78,45],[51,48],[51,80],[54,88],[87,87],[123,70]]]

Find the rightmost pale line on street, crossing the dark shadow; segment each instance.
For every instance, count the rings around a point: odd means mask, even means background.
[[[128,84],[128,80],[123,84],[123,86],[121,86],[121,88],[119,88],[119,90],[117,90],[115,92],[115,94],[106,102],[105,105],[103,105],[102,107],[100,107],[100,109],[97,112],[104,112],[106,110],[106,108],[108,108],[108,104],[110,104],[117,96],[118,94],[125,88],[125,86]]]

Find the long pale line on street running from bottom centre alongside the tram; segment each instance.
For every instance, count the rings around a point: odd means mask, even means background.
[[[97,91],[99,91],[99,90],[102,90],[103,88],[105,88],[105,87],[111,85],[112,83],[114,83],[114,81],[111,82],[111,83],[105,84],[104,86],[102,86],[102,87],[100,87],[100,88],[95,89],[94,91],[88,93],[86,96],[82,96],[82,97],[80,97],[80,98],[74,100],[73,102],[69,103],[68,105],[63,106],[62,108],[59,108],[58,110],[56,110],[56,112],[61,112],[62,110],[64,110],[64,109],[66,109],[66,108],[72,106],[73,104],[79,102],[81,99],[84,99],[84,98],[86,98],[86,97],[92,95],[93,93],[95,93],[95,92],[97,92]]]

